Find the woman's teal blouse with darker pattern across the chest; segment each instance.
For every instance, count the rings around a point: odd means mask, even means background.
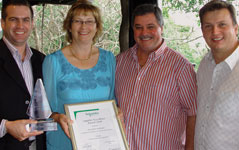
[[[68,62],[61,50],[46,56],[43,80],[52,112],[64,113],[64,104],[114,99],[115,57],[99,48],[97,64],[79,69]],[[46,133],[47,150],[72,150],[70,139],[58,125]]]

